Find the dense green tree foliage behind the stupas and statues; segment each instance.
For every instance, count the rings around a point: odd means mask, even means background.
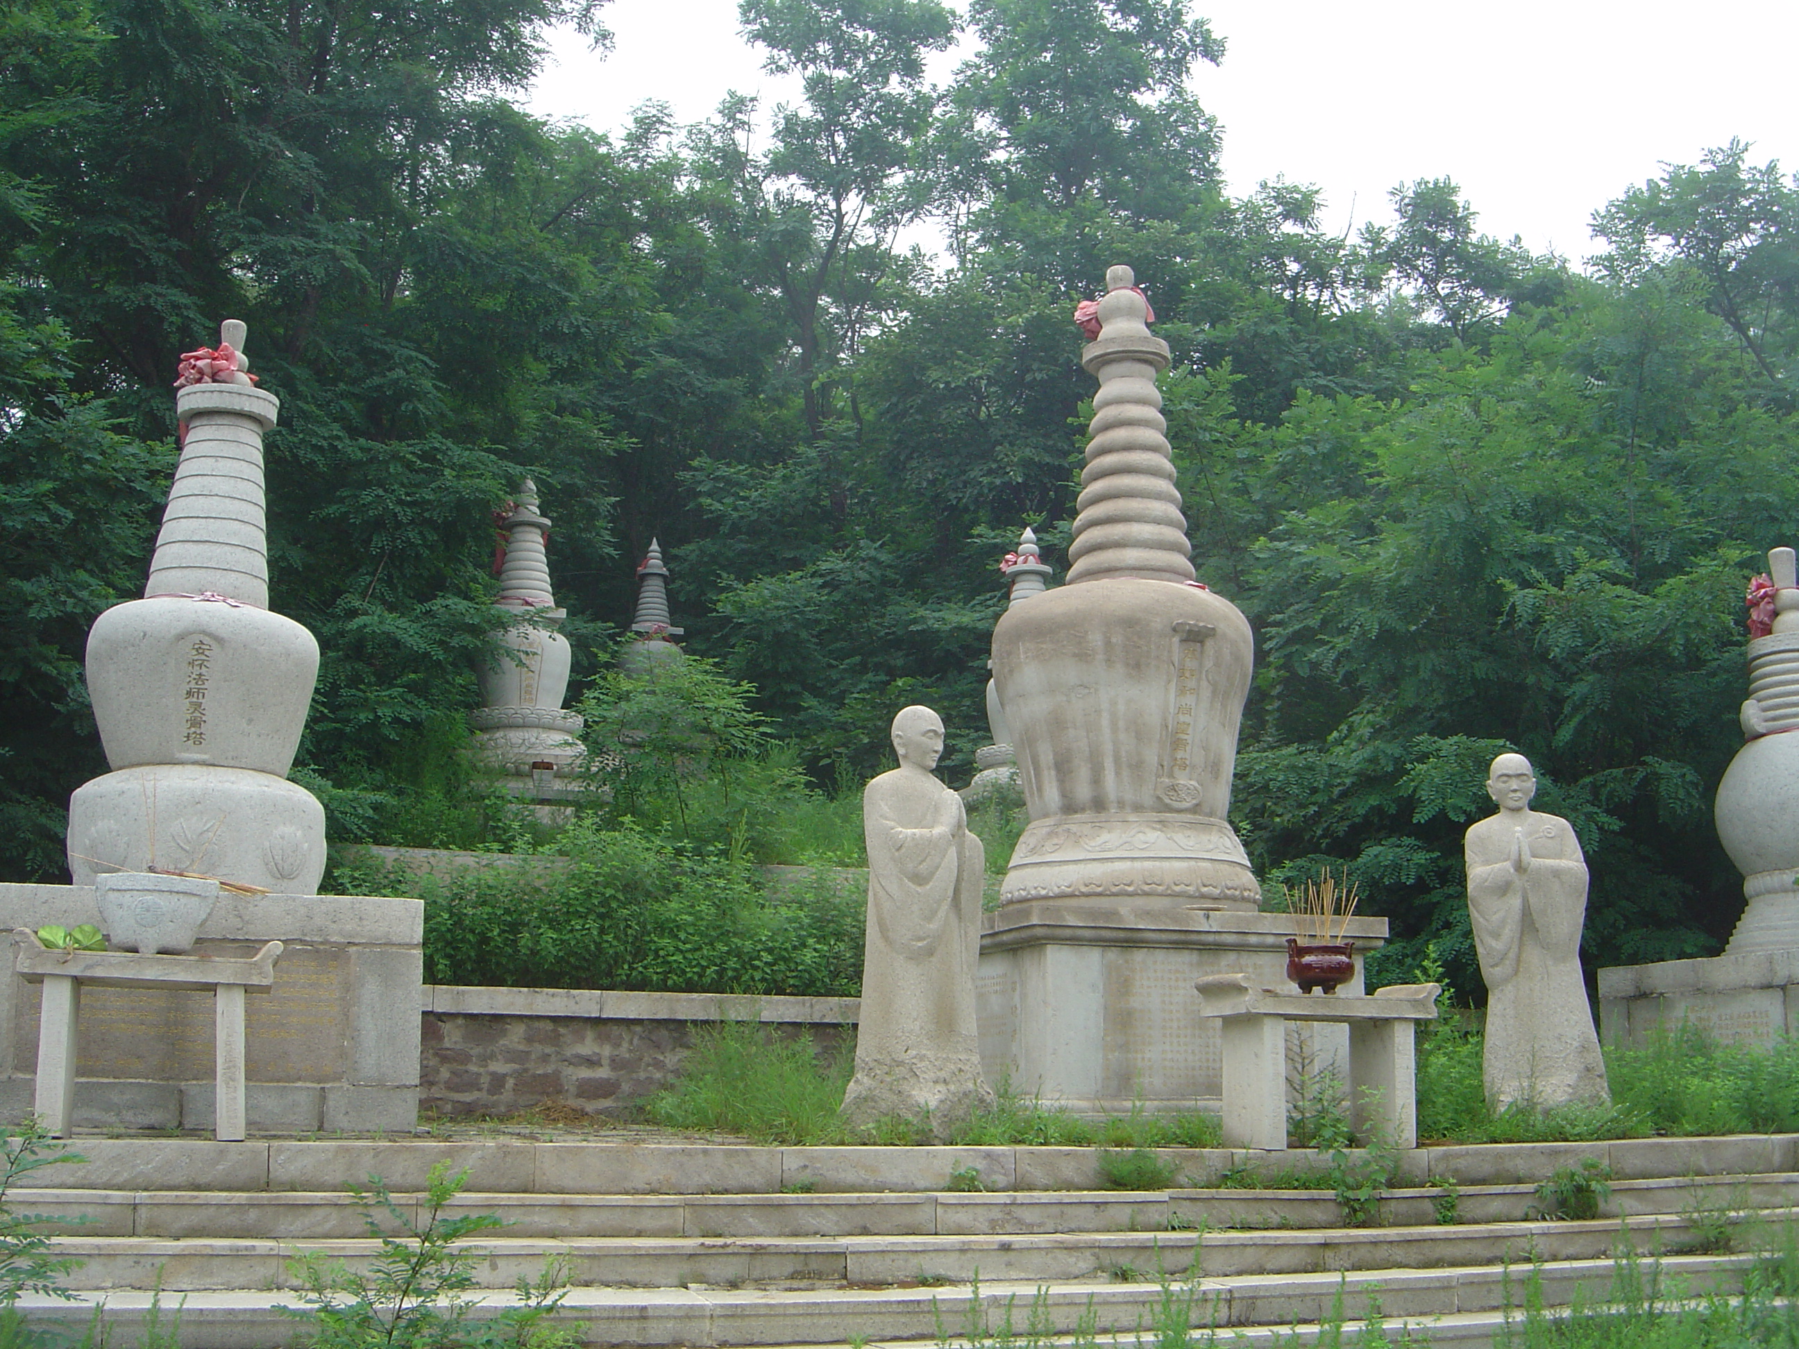
[[[169,380],[221,317],[282,398],[275,603],[326,664],[302,775],[340,836],[430,833],[489,511],[556,518],[577,678],[658,534],[696,653],[822,788],[903,701],[982,739],[993,563],[1067,540],[1078,299],[1148,286],[1202,576],[1258,631],[1238,777],[1258,867],[1342,865],[1409,968],[1477,987],[1459,833],[1533,755],[1594,867],[1598,962],[1711,953],[1740,890],[1709,824],[1738,743],[1741,585],[1799,486],[1799,187],[1732,144],[1596,183],[1585,270],[1479,228],[1245,198],[1187,0],[745,0],[792,106],[621,135],[520,108],[577,0],[22,0],[0,16],[0,844],[59,869],[103,770],[86,624],[140,586]],[[934,266],[905,241],[941,228]],[[606,687],[594,685],[604,700]],[[597,707],[597,703],[595,703]],[[421,824],[425,820],[425,824]],[[421,840],[421,842],[428,842]]]

